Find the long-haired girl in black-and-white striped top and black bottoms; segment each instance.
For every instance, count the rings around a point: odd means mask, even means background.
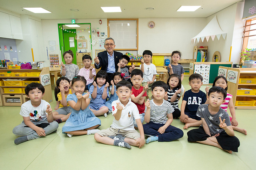
[[[164,99],[170,102],[173,106],[173,118],[178,118],[181,116],[181,110],[178,108],[178,100],[181,95],[181,78],[177,74],[171,74],[167,80],[168,92]]]

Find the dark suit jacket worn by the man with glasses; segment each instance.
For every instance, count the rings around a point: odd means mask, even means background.
[[[119,63],[119,60],[122,57],[122,55],[123,55],[122,53],[114,51],[114,60],[115,60],[116,72],[118,70],[117,64]],[[101,68],[100,70],[107,71],[107,68],[108,68],[108,54],[107,54],[107,51],[102,51],[102,52],[98,53],[98,58],[100,60],[100,65],[99,65],[99,67],[97,67],[96,63],[95,63],[94,64],[95,68],[96,69]]]

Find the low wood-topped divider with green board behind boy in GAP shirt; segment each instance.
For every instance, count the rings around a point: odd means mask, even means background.
[[[208,84],[213,84],[213,81],[215,79],[215,77],[218,76],[218,71],[219,71],[219,67],[220,66],[224,66],[224,67],[232,67],[232,63],[233,62],[193,62],[193,70],[189,70],[189,75],[195,73],[195,64],[202,64],[202,65],[206,65],[206,64],[210,64],[210,70],[209,70],[209,83]],[[204,84],[204,85],[208,85],[208,84]]]

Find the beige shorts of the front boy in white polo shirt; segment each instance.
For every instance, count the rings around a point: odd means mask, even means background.
[[[119,129],[115,129],[112,127],[107,128],[106,130],[101,130],[97,132],[97,134],[101,136],[116,136],[118,134],[121,134],[125,138],[131,138],[131,139],[137,139],[140,138],[140,133],[136,130],[130,130],[130,131],[123,131]]]

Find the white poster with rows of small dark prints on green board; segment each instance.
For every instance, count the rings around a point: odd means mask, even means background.
[[[209,84],[210,64],[195,64],[194,73],[203,77],[203,84]]]

